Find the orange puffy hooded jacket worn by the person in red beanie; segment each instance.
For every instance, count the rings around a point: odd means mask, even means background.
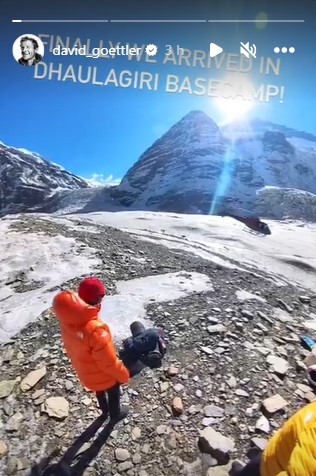
[[[128,370],[116,356],[110,329],[98,317],[99,309],[71,291],[62,291],[53,300],[71,364],[82,385],[97,392],[129,380]]]

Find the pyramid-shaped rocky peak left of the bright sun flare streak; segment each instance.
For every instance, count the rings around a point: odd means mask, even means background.
[[[229,150],[210,117],[190,112],[145,151],[114,196],[133,208],[179,212],[207,208],[214,177],[220,175]]]

